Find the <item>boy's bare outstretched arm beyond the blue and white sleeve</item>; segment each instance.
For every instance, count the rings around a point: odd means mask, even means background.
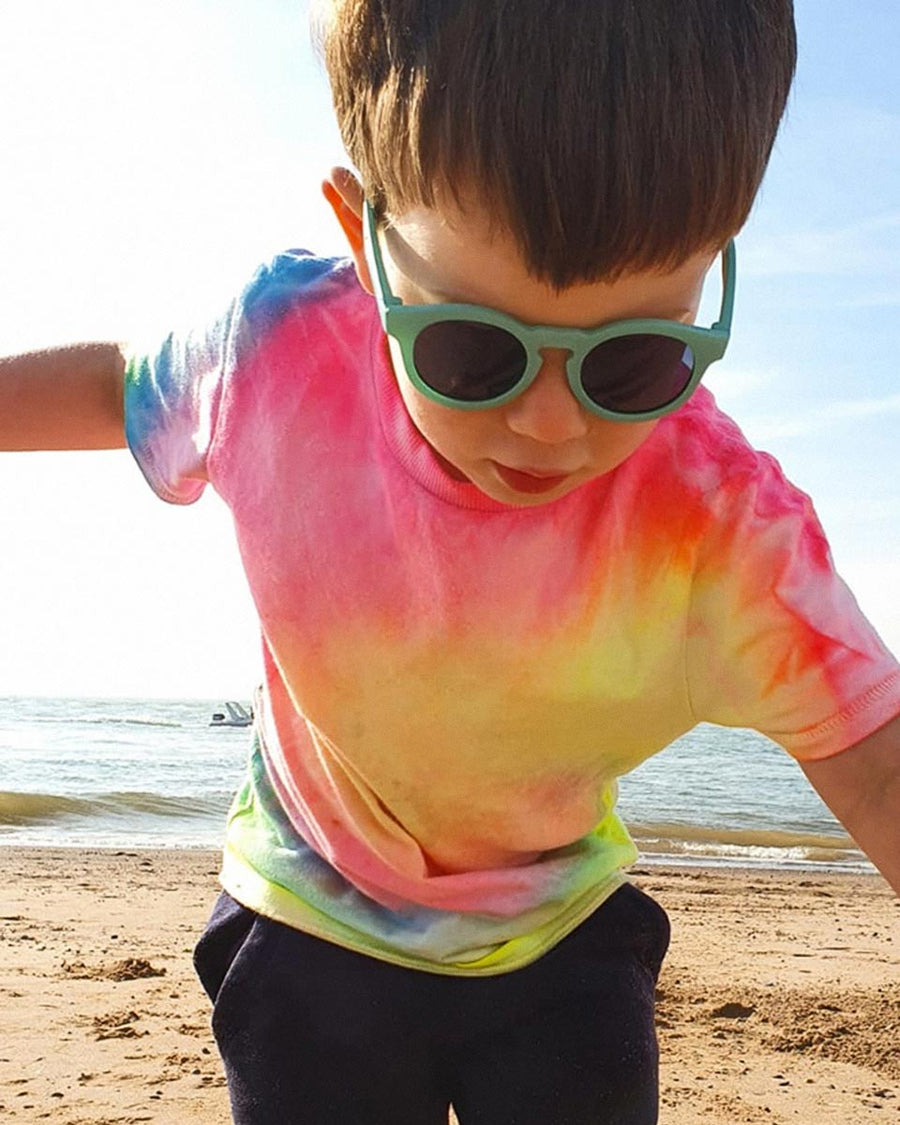
[[[124,372],[112,343],[0,359],[0,450],[122,449]]]

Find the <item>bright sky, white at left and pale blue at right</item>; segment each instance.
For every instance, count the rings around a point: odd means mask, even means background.
[[[900,651],[900,6],[795,9],[796,82],[706,382],[812,495]],[[306,3],[7,0],[0,137],[0,353],[153,339],[282,248],[342,251]],[[125,451],[3,453],[0,525],[0,695],[249,696],[253,606],[210,490],[164,504]]]

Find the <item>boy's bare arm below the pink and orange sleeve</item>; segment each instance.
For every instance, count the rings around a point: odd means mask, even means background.
[[[842,754],[801,767],[900,894],[900,716]]]

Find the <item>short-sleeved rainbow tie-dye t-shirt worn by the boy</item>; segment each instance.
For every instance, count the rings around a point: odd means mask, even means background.
[[[222,880],[263,915],[505,972],[621,884],[616,777],[698,722],[810,760],[900,712],[808,498],[703,389],[614,471],[504,505],[413,426],[351,267],[305,254],[126,379],[153,488],[234,516],[264,684]]]

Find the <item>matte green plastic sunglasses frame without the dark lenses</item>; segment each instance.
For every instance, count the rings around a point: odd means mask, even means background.
[[[722,303],[719,318],[711,327],[701,328],[692,324],[682,324],[678,321],[634,318],[613,321],[597,328],[562,328],[551,325],[523,324],[513,316],[507,316],[505,313],[484,305],[404,305],[390,289],[381,249],[378,244],[378,225],[375,212],[368,200],[363,204],[362,237],[369,270],[377,280],[375,297],[381,326],[399,344],[406,377],[416,390],[443,406],[452,406],[461,411],[484,411],[494,406],[503,406],[504,403],[521,395],[534,381],[543,363],[541,349],[560,348],[569,353],[566,359],[566,376],[572,393],[585,410],[613,422],[649,422],[677,410],[682,403],[690,398],[706,368],[710,363],[721,359],[728,346],[735,309],[737,274],[737,252],[734,240],[722,250]],[[451,398],[449,395],[442,395],[439,390],[430,387],[416,370],[415,340],[423,328],[446,321],[487,324],[504,328],[514,336],[522,344],[526,354],[525,369],[519,381],[502,395],[476,402]],[[582,362],[588,352],[608,340],[630,335],[658,335],[678,340],[690,348],[694,356],[694,370],[687,386],[670,402],[652,411],[630,413],[606,410],[595,403],[582,385]]]

